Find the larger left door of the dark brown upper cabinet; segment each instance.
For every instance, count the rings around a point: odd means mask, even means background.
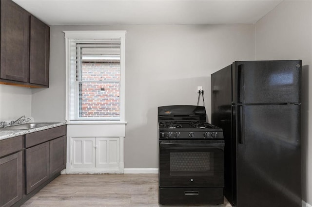
[[[28,82],[29,13],[13,1],[1,0],[0,78]]]

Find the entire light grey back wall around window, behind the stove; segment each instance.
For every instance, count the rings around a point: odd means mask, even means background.
[[[210,120],[211,73],[254,60],[252,24],[52,26],[50,87],[32,89],[35,120],[64,120],[63,30],[127,30],[125,168],[158,168],[158,106],[196,104],[197,86],[203,86]]]

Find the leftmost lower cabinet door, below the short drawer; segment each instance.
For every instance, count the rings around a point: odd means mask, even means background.
[[[23,153],[0,159],[0,207],[10,207],[23,196]]]

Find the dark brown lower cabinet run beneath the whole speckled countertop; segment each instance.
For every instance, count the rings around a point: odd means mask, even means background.
[[[66,125],[0,140],[0,207],[20,207],[65,167]]]

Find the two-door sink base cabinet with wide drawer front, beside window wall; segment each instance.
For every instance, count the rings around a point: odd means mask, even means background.
[[[26,195],[62,171],[66,166],[66,126],[27,134]]]

